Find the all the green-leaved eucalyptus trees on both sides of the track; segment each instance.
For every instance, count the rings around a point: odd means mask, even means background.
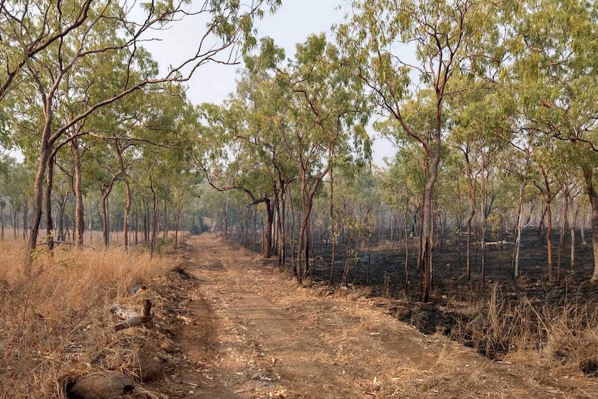
[[[395,214],[393,234],[418,237],[422,302],[438,231],[465,232],[468,278],[472,245],[484,252],[497,232],[512,231],[517,276],[528,217],[544,226],[550,282],[563,237],[589,220],[598,280],[593,2],[353,0],[333,39],[310,35],[291,58],[253,29],[280,1],[207,1],[198,10],[166,1],[146,5],[142,19],[115,3],[42,3],[0,4],[9,44],[0,51],[1,145],[22,151],[27,174],[24,195],[4,193],[31,212],[28,261],[42,220],[52,248],[65,195],[74,196],[77,245],[85,201],[98,204],[104,230],[108,208],[120,212],[113,189],[123,193],[123,239],[144,215],[156,237],[160,214],[180,213],[205,179],[216,191],[201,206],[212,219],[221,212],[223,230],[232,202],[250,205],[238,208],[246,235],[257,234],[254,208],[263,208],[264,255],[291,260],[299,281],[314,226],[327,232],[334,265],[339,239],[373,235],[383,207]],[[161,73],[144,40],[194,14],[208,17],[200,37],[210,40]],[[241,55],[227,101],[189,103],[182,84],[196,68]],[[368,126],[398,147],[384,170],[371,169]]]

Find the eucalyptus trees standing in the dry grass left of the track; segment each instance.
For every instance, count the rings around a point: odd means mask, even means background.
[[[117,186],[125,248],[132,216],[146,219],[152,248],[159,226],[169,225],[158,223],[160,214],[178,226],[197,184],[199,118],[183,84],[207,62],[237,63],[255,42],[254,20],[279,4],[0,3],[0,148],[24,156],[22,165],[3,156],[0,191],[13,201],[15,225],[22,210],[26,272],[40,241],[51,251],[55,237],[62,238],[65,217],[72,219],[75,244],[83,245],[85,197],[99,204],[108,245],[110,194]],[[160,71],[143,45],[183,17],[200,19],[198,42]],[[72,214],[65,212],[71,196]]]

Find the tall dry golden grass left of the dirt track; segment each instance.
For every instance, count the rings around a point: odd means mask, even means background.
[[[0,398],[62,398],[62,381],[84,371],[115,334],[110,307],[176,260],[58,246],[24,273],[22,241],[0,242]]]

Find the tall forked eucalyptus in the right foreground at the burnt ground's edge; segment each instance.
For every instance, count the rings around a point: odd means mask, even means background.
[[[481,44],[497,41],[495,35],[499,32],[494,17],[499,10],[494,3],[472,0],[353,0],[350,4],[353,15],[347,24],[339,26],[339,40],[357,63],[359,76],[375,95],[382,112],[398,121],[429,158],[418,260],[422,271],[420,300],[427,302],[432,266],[432,191],[441,160],[445,100],[464,90],[452,84],[454,76],[485,73],[475,65],[482,53]],[[416,60],[404,58],[409,49],[415,51]],[[403,111],[416,75],[415,85],[431,92],[434,110],[431,137],[411,126]]]

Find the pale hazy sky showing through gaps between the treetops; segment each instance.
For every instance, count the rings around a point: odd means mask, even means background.
[[[287,58],[295,53],[295,44],[303,42],[311,33],[327,33],[331,37],[333,24],[343,21],[345,12],[339,10],[344,0],[283,0],[275,15],[266,14],[257,23],[258,35],[271,36],[278,46],[284,47]],[[205,32],[205,22],[197,19],[183,19],[173,24],[160,35],[160,42],[150,42],[146,47],[160,62],[163,70],[177,65],[196,49],[200,34]],[[189,80],[189,99],[196,104],[203,102],[221,103],[234,91],[236,71],[241,66],[208,64],[198,68]],[[370,131],[370,135],[373,135]],[[377,139],[374,147],[374,162],[382,165],[382,158],[392,156],[395,148],[386,140]]]

